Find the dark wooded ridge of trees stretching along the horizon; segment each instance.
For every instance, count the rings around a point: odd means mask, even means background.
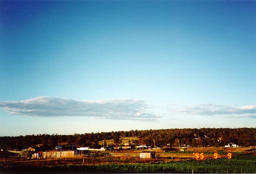
[[[115,138],[114,138],[115,137]],[[73,135],[37,134],[26,136],[2,136],[0,137],[1,149],[23,149],[36,144],[49,145],[52,148],[66,142],[69,145],[90,146],[100,148],[101,140],[118,139],[125,137],[137,137],[133,144],[146,144],[150,146],[224,146],[233,142],[239,146],[256,145],[256,128],[186,128],[186,129],[158,129],[158,130],[129,130],[116,132],[97,132]],[[116,143],[120,141],[115,140]]]

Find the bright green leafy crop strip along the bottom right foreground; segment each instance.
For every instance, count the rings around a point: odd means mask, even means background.
[[[100,172],[138,172],[138,173],[256,173],[254,160],[202,160],[177,161],[160,164],[104,164],[84,166],[85,170]]]

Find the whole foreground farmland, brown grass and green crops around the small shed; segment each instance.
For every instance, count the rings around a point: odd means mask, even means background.
[[[235,148],[234,148],[235,149]],[[220,149],[191,148],[187,152],[156,151],[157,158],[140,159],[141,151],[105,152],[108,156],[91,156],[55,159],[0,158],[1,172],[91,172],[91,173],[256,173],[256,153],[252,149],[227,149],[232,158],[213,159]],[[238,152],[239,151],[239,152]],[[195,152],[204,152],[204,159],[195,159]],[[100,155],[100,154],[99,154]],[[210,158],[211,157],[211,158]],[[220,158],[221,157],[221,158]]]

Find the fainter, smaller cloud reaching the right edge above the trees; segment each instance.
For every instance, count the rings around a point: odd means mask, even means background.
[[[243,115],[256,118],[256,105],[233,107],[232,105],[197,104],[170,110],[172,114],[185,115]]]

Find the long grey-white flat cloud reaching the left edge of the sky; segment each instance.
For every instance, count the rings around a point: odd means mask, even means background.
[[[156,115],[146,112],[144,100],[72,100],[40,96],[21,101],[1,101],[0,107],[12,115],[25,116],[86,116],[116,120],[156,121]]]

